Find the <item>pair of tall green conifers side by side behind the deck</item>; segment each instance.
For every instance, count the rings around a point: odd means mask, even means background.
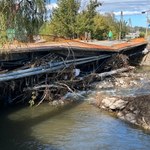
[[[66,38],[75,38],[85,32],[93,33],[94,16],[99,2],[90,0],[86,9],[79,13],[79,0],[59,0],[53,10],[50,31],[52,34]]]

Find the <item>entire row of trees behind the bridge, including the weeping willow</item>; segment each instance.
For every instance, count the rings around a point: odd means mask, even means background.
[[[6,43],[7,30],[15,31],[15,38],[30,41],[35,34],[54,35],[65,38],[83,37],[90,32],[92,38],[107,39],[111,30],[113,38],[122,38],[128,32],[127,23],[119,22],[113,14],[101,15],[97,8],[101,3],[90,0],[84,10],[80,0],[58,0],[58,7],[51,13],[51,20],[44,22],[46,16],[44,0],[1,0],[0,1],[0,43]],[[14,38],[14,35],[13,35]]]

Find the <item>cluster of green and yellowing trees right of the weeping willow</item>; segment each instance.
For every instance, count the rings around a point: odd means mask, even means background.
[[[51,20],[40,31],[66,38],[82,38],[85,32],[91,32],[92,38],[103,40],[108,38],[110,30],[113,38],[118,39],[121,26],[124,36],[127,33],[126,22],[120,24],[112,13],[101,15],[97,12],[100,5],[97,0],[90,0],[85,9],[81,9],[79,0],[58,0],[58,7],[53,10]]]

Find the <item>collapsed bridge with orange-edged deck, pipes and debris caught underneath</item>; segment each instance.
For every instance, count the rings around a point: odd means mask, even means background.
[[[86,89],[95,80],[93,73],[139,63],[146,45],[146,41],[112,46],[71,41],[12,47],[0,55],[0,101],[24,102],[39,95],[38,99],[52,100],[67,91]]]

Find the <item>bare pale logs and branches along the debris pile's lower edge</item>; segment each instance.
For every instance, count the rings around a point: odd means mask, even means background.
[[[55,83],[50,83],[50,84],[42,84],[42,85],[37,85],[37,86],[34,86],[34,87],[28,87],[27,89],[25,89],[25,91],[40,91],[40,90],[43,90],[44,91],[44,96],[42,97],[42,99],[40,100],[40,102],[38,103],[41,104],[45,97],[48,96],[48,92],[47,91],[53,91],[55,89],[55,91],[57,91],[59,93],[59,95],[61,96],[60,99],[62,99],[63,95],[60,94],[59,91],[63,90],[64,91],[64,94],[67,94],[67,92],[71,92],[73,93],[74,95],[76,95],[76,97],[80,97],[80,98],[84,98],[82,95],[79,95],[78,93],[76,93],[77,90],[77,87],[80,86],[80,90],[84,88],[84,83],[86,82],[88,84],[89,82],[89,79],[90,79],[90,82],[94,82],[96,80],[102,80],[104,79],[105,77],[108,77],[108,76],[112,76],[112,75],[115,75],[115,74],[119,74],[119,73],[122,73],[122,72],[126,72],[126,71],[129,71],[129,70],[132,70],[134,69],[134,67],[127,67],[127,68],[120,68],[120,69],[116,69],[116,70],[112,70],[110,72],[104,72],[104,73],[100,73],[100,74],[91,74],[91,75],[88,75],[88,76],[85,76],[83,78],[81,78],[80,80],[72,80],[70,81],[70,83],[68,83],[68,81],[62,81],[63,83],[61,82],[55,82]],[[79,85],[79,82],[82,83],[82,86]],[[72,84],[74,83],[74,84]],[[72,84],[72,85],[71,85]],[[53,92],[50,92],[51,94]]]

